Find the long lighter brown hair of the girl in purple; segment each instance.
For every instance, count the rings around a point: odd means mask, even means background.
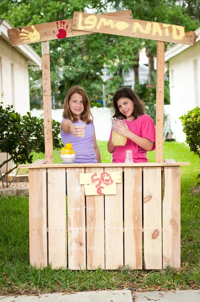
[[[84,110],[80,115],[81,121],[85,122],[85,124],[87,124],[87,125],[90,123],[93,123],[93,116],[90,111],[89,99],[88,99],[87,93],[80,86],[73,86],[68,90],[65,100],[64,100],[63,118],[67,118],[72,122],[78,121],[77,117],[71,112],[71,110],[69,108],[69,101],[74,93],[79,94],[83,100]]]

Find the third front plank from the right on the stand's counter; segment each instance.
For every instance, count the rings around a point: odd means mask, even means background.
[[[142,168],[124,169],[125,265],[142,269]]]

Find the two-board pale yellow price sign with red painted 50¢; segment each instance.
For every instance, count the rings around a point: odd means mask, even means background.
[[[117,194],[116,183],[122,182],[121,172],[80,173],[80,185],[84,185],[85,195]]]

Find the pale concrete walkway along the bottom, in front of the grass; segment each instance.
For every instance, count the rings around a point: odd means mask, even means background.
[[[200,302],[200,290],[146,291],[134,292],[132,298],[130,290],[113,291],[83,291],[76,293],[51,293],[33,295],[0,296],[3,302]],[[163,299],[164,298],[164,299]]]

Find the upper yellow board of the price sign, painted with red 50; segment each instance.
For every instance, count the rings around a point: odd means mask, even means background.
[[[121,183],[122,182],[122,173],[121,172],[109,172],[109,173],[82,173],[80,174],[80,185],[85,185],[85,184],[97,184],[98,181],[101,181],[102,183],[105,182],[105,177],[106,177],[106,182],[110,183],[110,179],[114,183]]]

